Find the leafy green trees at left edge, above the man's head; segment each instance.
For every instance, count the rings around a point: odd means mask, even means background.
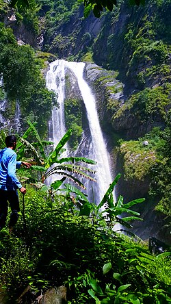
[[[40,135],[44,136],[51,107],[57,103],[55,94],[45,87],[44,78],[40,73],[42,65],[36,58],[34,49],[29,45],[18,46],[12,30],[6,29],[2,23],[0,31],[0,73],[3,77],[2,88],[9,100],[5,117],[10,119],[14,116],[18,101],[21,105],[24,127],[27,119],[37,122]]]

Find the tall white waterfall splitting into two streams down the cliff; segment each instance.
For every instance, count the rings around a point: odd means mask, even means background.
[[[65,60],[56,60],[50,64],[50,70],[47,73],[47,88],[54,90],[58,94],[58,103],[60,109],[53,108],[52,125],[53,125],[53,142],[58,142],[64,135],[64,84],[65,71],[68,68],[77,78],[79,90],[81,92],[83,102],[86,107],[86,114],[90,128],[89,136],[83,132],[82,140],[77,149],[78,155],[96,160],[96,183],[92,184],[96,203],[99,203],[103,198],[109,184],[112,181],[109,155],[101,127],[98,121],[98,113],[96,111],[96,101],[90,90],[90,87],[83,79],[83,62],[66,62]],[[92,196],[92,189],[87,186],[88,197]]]

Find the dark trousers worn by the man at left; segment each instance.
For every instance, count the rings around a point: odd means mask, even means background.
[[[14,227],[18,220],[18,212],[20,211],[18,193],[16,190],[0,189],[0,229],[5,227],[8,215],[8,202],[11,208],[9,227]]]

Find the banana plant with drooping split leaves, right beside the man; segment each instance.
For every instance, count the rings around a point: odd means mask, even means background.
[[[34,135],[36,142],[29,143],[27,138],[30,134]],[[86,157],[62,157],[62,153],[65,151],[64,145],[68,142],[71,134],[72,129],[68,129],[55,149],[47,155],[47,146],[53,144],[53,142],[42,141],[36,127],[29,122],[29,129],[27,129],[23,137],[18,140],[16,146],[18,157],[23,157],[25,153],[34,155],[36,164],[33,164],[31,168],[38,170],[42,183],[51,175],[57,175],[58,177],[62,175],[62,179],[57,179],[51,184],[51,188],[55,190],[57,190],[67,178],[74,181],[81,188],[85,188],[83,183],[79,181],[75,175],[95,181],[95,179],[90,176],[90,174],[94,174],[95,171],[86,166],[82,166],[81,164],[94,165],[96,164],[94,160],[90,160]]]

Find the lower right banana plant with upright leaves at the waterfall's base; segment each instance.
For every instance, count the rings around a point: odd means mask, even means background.
[[[88,201],[87,195],[83,194],[83,192],[75,188],[75,186],[65,183],[65,189],[63,190],[66,190],[68,194],[73,193],[75,195],[75,204],[79,208],[79,216],[90,216],[94,221],[100,220],[102,224],[105,222],[106,225],[108,223],[111,229],[113,227],[111,223],[114,223],[114,225],[116,225],[116,223],[120,223],[124,227],[132,228],[131,224],[128,222],[131,220],[142,220],[142,218],[140,218],[140,213],[135,212],[130,208],[137,203],[142,203],[145,199],[135,199],[129,203],[124,204],[123,197],[120,195],[115,202],[113,195],[114,187],[116,186],[116,183],[118,183],[120,176],[120,174],[116,176],[114,181],[107,189],[107,192],[104,194],[101,203],[98,205],[90,203],[90,201]],[[122,214],[131,214],[131,216],[129,215],[121,217]],[[129,232],[129,234],[131,235],[132,233]]]

